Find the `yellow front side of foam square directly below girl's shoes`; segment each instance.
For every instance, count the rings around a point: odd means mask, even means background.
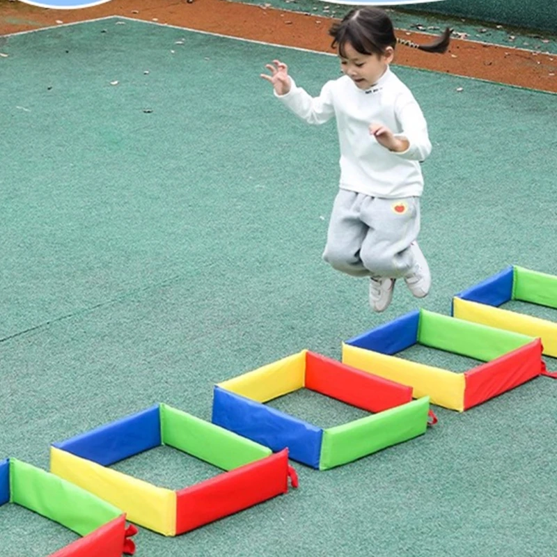
[[[343,343],[343,363],[411,386],[414,398],[429,396],[432,404],[464,411],[466,379],[460,373],[426,366]]]

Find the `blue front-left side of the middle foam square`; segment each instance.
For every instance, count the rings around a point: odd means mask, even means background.
[[[292,460],[319,468],[323,430],[274,408],[215,386],[212,422],[277,451],[288,447]]]

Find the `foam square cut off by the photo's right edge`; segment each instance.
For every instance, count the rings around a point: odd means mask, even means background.
[[[519,300],[557,308],[557,276],[511,265],[453,298],[459,319],[542,339],[544,354],[557,357],[557,323],[499,308]]]

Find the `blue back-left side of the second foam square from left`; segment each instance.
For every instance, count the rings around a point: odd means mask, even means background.
[[[157,405],[53,445],[72,455],[110,466],[161,444]]]

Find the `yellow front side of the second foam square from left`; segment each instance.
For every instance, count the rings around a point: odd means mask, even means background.
[[[50,471],[123,510],[131,522],[164,535],[176,535],[176,494],[170,489],[155,487],[56,447],[50,448]]]

